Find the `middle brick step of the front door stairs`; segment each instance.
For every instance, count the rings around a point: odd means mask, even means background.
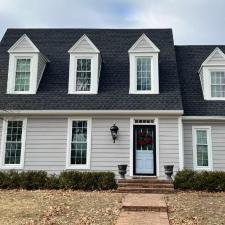
[[[173,188],[171,183],[119,183],[119,187],[129,187],[129,188]]]

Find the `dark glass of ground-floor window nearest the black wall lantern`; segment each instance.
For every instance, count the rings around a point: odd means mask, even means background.
[[[86,164],[87,121],[72,122],[71,164]]]

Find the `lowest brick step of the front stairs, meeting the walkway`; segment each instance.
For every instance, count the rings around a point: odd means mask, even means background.
[[[154,194],[169,194],[173,193],[173,188],[135,188],[135,187],[119,187],[119,193],[154,193]]]

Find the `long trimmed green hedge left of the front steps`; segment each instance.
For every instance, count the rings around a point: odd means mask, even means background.
[[[111,172],[65,171],[59,176],[45,171],[0,171],[0,188],[108,190],[116,188],[115,175]]]

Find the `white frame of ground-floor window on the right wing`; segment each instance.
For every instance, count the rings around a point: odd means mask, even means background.
[[[198,130],[203,130],[203,131],[206,131],[207,133],[208,166],[198,166],[197,164],[197,131]],[[192,145],[193,145],[194,170],[213,170],[211,126],[193,126],[192,127]]]

